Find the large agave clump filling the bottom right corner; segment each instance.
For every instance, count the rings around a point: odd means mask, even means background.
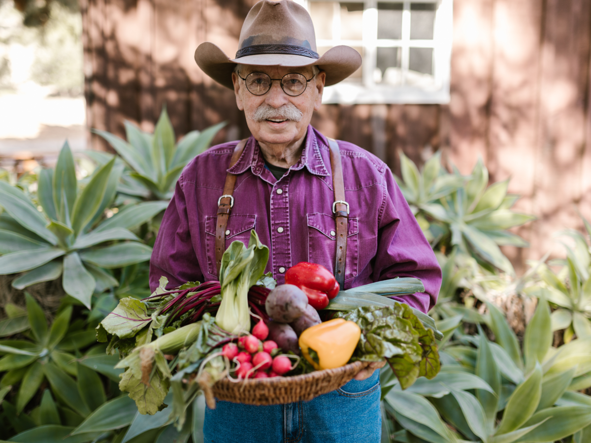
[[[440,351],[444,364],[434,379],[419,379],[402,391],[389,374],[382,377],[385,418],[394,416],[403,428],[395,432],[387,420],[390,441],[528,443],[570,436],[587,441],[591,400],[575,391],[591,385],[591,338],[551,347],[550,308],[542,298],[525,330],[522,356],[501,311],[488,308],[497,343],[482,330],[479,337],[456,331],[463,344]],[[443,321],[453,331],[457,320]]]

